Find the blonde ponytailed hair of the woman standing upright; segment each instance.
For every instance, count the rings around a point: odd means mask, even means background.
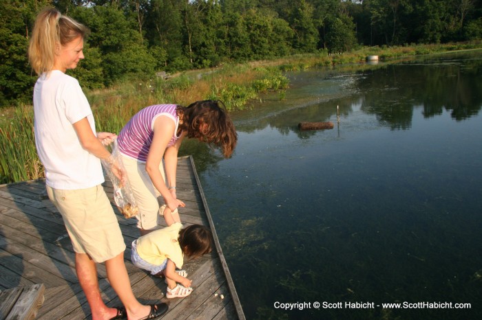
[[[78,36],[85,38],[88,33],[85,25],[64,16],[59,10],[43,9],[36,17],[28,47],[32,69],[39,75],[50,72],[54,66],[56,47],[66,45]]]

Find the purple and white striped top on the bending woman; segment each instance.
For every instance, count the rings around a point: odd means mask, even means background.
[[[173,146],[178,140],[179,118],[176,115],[176,104],[155,104],[147,106],[136,113],[132,119],[125,124],[117,137],[119,151],[130,158],[140,162],[147,161],[149,148],[154,137],[154,121],[160,115],[171,118],[176,124],[174,133],[167,146]]]

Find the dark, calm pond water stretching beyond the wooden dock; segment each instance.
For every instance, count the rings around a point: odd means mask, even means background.
[[[247,319],[482,319],[481,53],[289,73],[189,144]]]

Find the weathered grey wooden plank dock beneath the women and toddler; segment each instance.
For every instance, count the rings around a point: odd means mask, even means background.
[[[131,243],[138,238],[136,219],[125,219],[118,212],[108,179],[104,187],[121,225],[127,245],[125,264],[134,295],[141,303],[169,304],[169,311],[160,319],[245,319],[192,157],[180,157],[178,161],[178,198],[186,203],[179,210],[180,218],[183,225],[210,227],[216,250],[185,261],[183,268],[194,288],[188,297],[167,299],[164,280],[131,263]],[[103,264],[98,265],[98,277],[107,306],[121,306],[107,282]],[[45,286],[45,301],[36,319],[91,319],[76,277],[72,244],[59,212],[46,196],[43,179],[0,185],[0,290],[34,284]]]

